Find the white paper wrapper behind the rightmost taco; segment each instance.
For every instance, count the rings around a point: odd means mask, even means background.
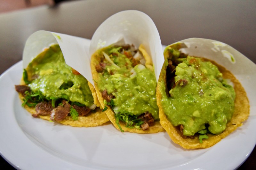
[[[250,116],[256,115],[256,65],[251,60],[223,42],[202,38],[189,38],[179,42],[187,46],[181,48],[185,54],[211,59],[231,71],[247,93]]]

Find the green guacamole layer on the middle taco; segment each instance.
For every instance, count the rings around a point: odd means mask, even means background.
[[[102,51],[116,64],[107,64],[103,73],[98,73],[100,82],[97,82],[100,91],[106,89],[108,94],[115,96],[113,110],[132,115],[149,112],[155,120],[159,119],[154,72],[142,64],[133,67],[127,57],[131,53],[121,53],[120,47],[110,46]],[[104,62],[109,63],[107,60]]]

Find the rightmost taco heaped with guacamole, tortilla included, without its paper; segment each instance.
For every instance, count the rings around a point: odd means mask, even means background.
[[[160,123],[186,149],[208,148],[249,116],[243,86],[223,66],[167,46],[157,84]]]

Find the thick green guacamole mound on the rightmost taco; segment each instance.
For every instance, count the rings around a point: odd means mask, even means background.
[[[177,57],[179,52],[172,50],[170,52]],[[205,124],[209,124],[211,133],[220,134],[234,112],[233,87],[211,62],[192,56],[179,60],[170,96],[164,88],[161,89],[164,113],[173,126],[183,125],[185,136],[193,136],[205,129]]]

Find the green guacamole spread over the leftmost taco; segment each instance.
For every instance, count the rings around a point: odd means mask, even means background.
[[[33,92],[41,91],[46,98],[66,99],[87,107],[93,105],[87,80],[65,63],[59,45],[39,54],[26,70],[31,75],[28,86]]]

